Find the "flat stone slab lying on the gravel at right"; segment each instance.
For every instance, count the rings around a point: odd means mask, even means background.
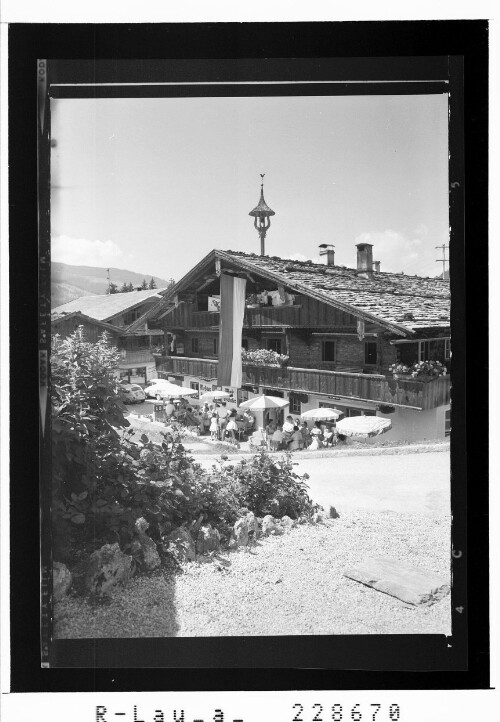
[[[365,559],[345,571],[344,576],[415,606],[433,604],[450,592],[450,585],[443,577],[397,559]]]

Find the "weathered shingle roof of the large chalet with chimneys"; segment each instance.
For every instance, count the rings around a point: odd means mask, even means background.
[[[256,273],[263,272],[299,292],[313,292],[327,302],[339,302],[350,306],[353,311],[370,314],[381,323],[396,324],[408,331],[450,324],[448,280],[380,271],[367,278],[356,269],[344,266],[326,266],[240,251],[216,253],[251,267]]]

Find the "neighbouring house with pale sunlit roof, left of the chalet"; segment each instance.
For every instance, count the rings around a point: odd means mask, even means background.
[[[122,353],[120,376],[135,383],[146,383],[157,376],[153,354],[163,350],[164,334],[160,329],[150,329],[147,321],[139,325],[135,322],[165,293],[166,289],[148,289],[106,296],[82,296],[53,309],[53,331],[61,336],[69,335],[79,325],[76,319],[80,316],[85,319],[83,325],[88,328],[89,340],[96,340],[101,324],[102,330],[106,327],[117,338],[117,346]],[[132,324],[134,329],[129,332]]]

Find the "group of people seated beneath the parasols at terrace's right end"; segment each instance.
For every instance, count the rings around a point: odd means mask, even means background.
[[[267,446],[271,451],[300,449],[321,449],[334,446],[337,442],[335,427],[332,423],[316,421],[310,429],[305,421],[293,420],[287,416],[283,425],[271,420],[266,426]]]

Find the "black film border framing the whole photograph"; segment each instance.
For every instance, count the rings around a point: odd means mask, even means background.
[[[225,80],[231,63],[224,60],[235,58],[245,59],[238,66],[241,75],[227,80],[245,80],[249,74],[259,81],[276,79],[277,72],[283,80],[306,80],[311,73],[321,78],[325,68],[331,77],[327,59],[332,59],[335,65],[334,58],[340,80],[346,79],[342,73],[348,70],[348,79],[352,81],[356,67],[360,79],[370,79],[367,73],[372,73],[371,79],[375,80],[384,77],[381,73],[389,72],[391,66],[384,59],[394,58],[398,58],[400,70],[405,68],[411,73],[413,68],[414,80],[422,77],[422,72],[430,80],[436,69],[441,77],[444,59],[451,90],[450,117],[455,120],[450,133],[455,610],[452,640],[432,635],[58,640],[46,650],[48,668],[41,668],[37,480],[43,439],[39,436],[37,405],[26,403],[24,407],[16,387],[22,378],[23,386],[26,384],[29,389],[29,393],[23,391],[26,399],[39,397],[39,351],[43,347],[44,323],[38,310],[47,293],[47,275],[43,266],[39,275],[37,239],[39,233],[43,235],[48,220],[44,216],[43,183],[40,195],[37,187],[40,58],[49,60],[49,68],[51,60],[79,59],[83,63],[76,64],[77,72],[83,73],[81,78],[90,73],[89,82],[96,81],[106,64],[85,61],[105,59],[133,60],[131,68],[143,74],[140,81],[144,80],[147,64],[141,65],[137,58],[158,60],[156,65],[162,77],[170,67],[175,79],[184,79],[182,72],[192,78],[194,68],[194,77],[200,82],[203,73],[212,74],[207,82],[214,75],[217,80]],[[220,62],[211,64],[209,60]],[[62,64],[54,65],[62,72]],[[113,68],[111,63],[110,69],[116,78],[120,64],[115,63]],[[130,68],[127,72],[130,81]],[[263,75],[259,75],[261,72]],[[271,76],[266,76],[270,72]],[[302,78],[300,72],[304,73]],[[154,80],[150,70],[147,73],[148,81]],[[487,83],[486,21],[10,26],[13,691],[488,687],[487,429],[484,424],[479,428],[470,423],[476,413],[486,418],[488,410]],[[317,85],[304,86],[304,90],[307,87],[314,94],[320,91]],[[415,89],[421,92],[416,83]],[[219,86],[218,92],[222,95],[229,90],[228,86]],[[325,92],[330,93],[331,89]],[[391,92],[395,92],[395,86]],[[243,88],[243,93],[247,94],[248,89]],[[269,94],[276,94],[276,86]],[[41,157],[43,163],[43,152]],[[468,239],[467,244],[464,238]],[[466,318],[473,322],[473,331],[468,335]],[[38,445],[36,439],[40,439]],[[467,484],[468,453],[471,462]],[[42,461],[44,458],[42,454]],[[42,510],[45,506],[47,512],[47,499],[42,498],[41,502]],[[50,612],[50,600],[42,601],[47,602]],[[50,619],[46,629],[50,633]],[[220,665],[217,668],[213,667],[214,659]],[[193,675],[193,668],[203,668],[203,674]]]

